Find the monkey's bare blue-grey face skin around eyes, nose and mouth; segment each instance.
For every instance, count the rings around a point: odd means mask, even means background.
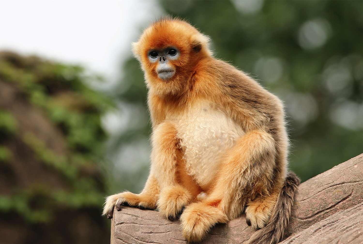
[[[176,73],[174,63],[180,57],[180,51],[176,47],[167,47],[166,49],[150,50],[148,60],[155,65],[155,71],[158,77],[163,80],[170,79]]]

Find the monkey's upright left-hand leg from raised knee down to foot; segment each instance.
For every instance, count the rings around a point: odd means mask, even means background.
[[[193,200],[190,189],[180,179],[183,159],[177,131],[172,123],[158,125],[152,134],[152,168],[160,184],[157,202],[160,214],[175,219],[183,207]]]

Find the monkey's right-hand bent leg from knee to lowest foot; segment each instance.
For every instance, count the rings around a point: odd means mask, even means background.
[[[238,140],[217,172],[205,200],[188,205],[181,215],[183,235],[198,242],[216,223],[236,218],[248,198],[268,192],[275,167],[275,143],[264,131],[251,131]],[[270,212],[262,211],[264,221]]]

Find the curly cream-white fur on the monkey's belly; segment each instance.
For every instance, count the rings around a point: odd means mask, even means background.
[[[189,110],[176,127],[187,171],[202,187],[213,180],[225,152],[244,135],[223,112],[203,105]]]

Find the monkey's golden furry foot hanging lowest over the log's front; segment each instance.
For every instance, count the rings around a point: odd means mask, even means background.
[[[183,237],[189,243],[201,241],[216,223],[227,223],[228,218],[220,209],[203,202],[187,206],[180,216]]]

